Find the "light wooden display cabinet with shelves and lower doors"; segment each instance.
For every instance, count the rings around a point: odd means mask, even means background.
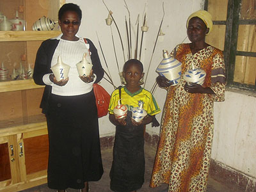
[[[56,10],[51,10],[52,4]],[[47,182],[48,136],[40,101],[44,86],[33,79],[10,80],[20,62],[33,68],[36,51],[43,40],[60,31],[31,31],[35,20],[58,14],[63,0],[1,0],[0,12],[8,19],[26,20],[26,31],[0,31],[0,65],[9,70],[9,79],[0,81],[0,191],[20,191]],[[57,7],[57,8],[56,8]],[[56,20],[55,18],[50,17]]]

